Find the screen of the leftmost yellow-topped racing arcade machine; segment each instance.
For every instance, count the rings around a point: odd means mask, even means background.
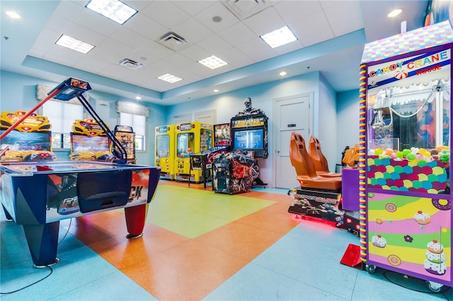
[[[0,134],[4,131],[0,131]],[[1,140],[0,149],[10,151],[51,151],[50,132],[11,131]]]

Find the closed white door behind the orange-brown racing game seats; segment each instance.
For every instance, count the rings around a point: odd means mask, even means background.
[[[301,134],[308,142],[311,133],[311,94],[275,100],[275,187],[299,187],[297,174],[289,159],[291,132]]]

